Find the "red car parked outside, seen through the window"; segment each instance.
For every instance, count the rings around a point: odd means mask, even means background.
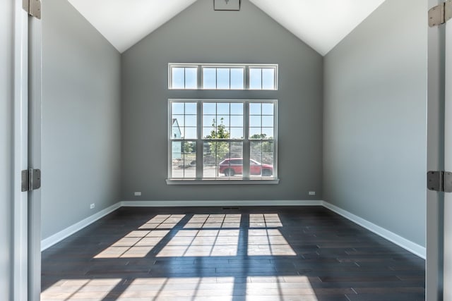
[[[231,158],[225,159],[218,165],[218,173],[224,173],[225,176],[240,175],[243,173],[243,159]],[[272,176],[273,165],[261,164],[256,160],[249,160],[249,173],[251,175]]]

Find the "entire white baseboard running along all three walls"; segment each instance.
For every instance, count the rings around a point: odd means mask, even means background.
[[[365,219],[356,216],[344,209],[340,209],[333,204],[324,202],[322,200],[267,200],[267,201],[122,201],[114,204],[102,211],[97,212],[93,216],[89,216],[83,221],[80,221],[59,233],[56,233],[49,238],[45,238],[41,241],[41,251],[46,250],[57,242],[64,240],[68,236],[76,233],[77,231],[89,226],[98,219],[106,216],[112,211],[119,209],[120,207],[239,207],[239,206],[323,206],[331,211],[345,217],[359,226],[367,228],[367,230],[380,235],[382,238],[395,243],[396,245],[403,247],[405,250],[416,254],[417,256],[425,259],[426,248],[421,245],[417,245],[415,242],[407,240],[396,233],[381,228]]]

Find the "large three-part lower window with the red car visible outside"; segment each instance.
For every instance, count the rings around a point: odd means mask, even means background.
[[[169,100],[169,180],[277,178],[275,100]]]

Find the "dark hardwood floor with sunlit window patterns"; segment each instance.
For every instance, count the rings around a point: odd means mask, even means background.
[[[122,207],[42,252],[42,300],[424,300],[424,260],[323,207]]]

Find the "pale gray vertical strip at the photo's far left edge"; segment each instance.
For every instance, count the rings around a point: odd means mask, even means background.
[[[0,12],[0,300],[10,300],[12,261],[13,1]]]

